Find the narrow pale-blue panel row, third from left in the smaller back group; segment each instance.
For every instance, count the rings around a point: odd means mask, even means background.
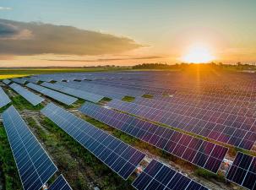
[[[26,84],[26,86],[29,87],[32,90],[40,92],[43,95],[51,97],[54,100],[60,101],[63,104],[66,104],[68,106],[73,104],[76,100],[78,100],[77,98],[74,98],[70,95],[64,95],[63,93],[47,89],[47,88],[42,87],[42,86],[37,85],[37,84],[29,83],[29,84]]]

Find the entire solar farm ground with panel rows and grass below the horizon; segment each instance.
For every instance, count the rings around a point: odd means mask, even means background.
[[[28,75],[0,82],[3,189],[256,189],[254,73]]]

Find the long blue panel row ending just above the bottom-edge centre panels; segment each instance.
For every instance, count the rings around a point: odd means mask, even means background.
[[[52,103],[41,112],[123,179],[144,159],[144,153]]]

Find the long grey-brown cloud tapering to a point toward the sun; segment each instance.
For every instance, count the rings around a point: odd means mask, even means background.
[[[66,25],[0,19],[0,54],[103,55],[141,47],[132,39]]]

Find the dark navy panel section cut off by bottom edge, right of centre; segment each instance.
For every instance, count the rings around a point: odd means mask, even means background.
[[[170,167],[152,160],[144,171],[133,182],[138,190],[207,190],[207,187],[194,182],[187,176],[172,170]]]

